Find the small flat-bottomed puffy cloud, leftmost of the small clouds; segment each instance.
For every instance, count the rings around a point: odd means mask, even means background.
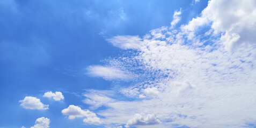
[[[20,100],[20,106],[26,109],[49,109],[49,105],[43,105],[40,99],[35,97],[25,97],[24,100]]]

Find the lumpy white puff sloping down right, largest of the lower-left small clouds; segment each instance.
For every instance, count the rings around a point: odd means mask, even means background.
[[[97,125],[102,123],[100,118],[98,118],[92,111],[82,110],[80,107],[74,105],[70,105],[68,108],[63,109],[61,113],[63,115],[68,115],[69,119],[75,119],[76,117],[86,117],[84,122],[89,124]]]

